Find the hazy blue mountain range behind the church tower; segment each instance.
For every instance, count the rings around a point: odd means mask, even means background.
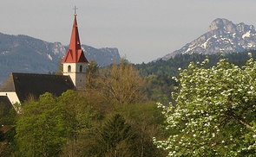
[[[82,47],[86,58],[95,60],[100,66],[121,60],[117,48]],[[60,42],[51,43],[27,35],[0,33],[0,85],[10,72],[56,72],[68,48]]]

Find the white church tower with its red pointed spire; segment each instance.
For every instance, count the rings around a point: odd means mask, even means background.
[[[74,16],[75,19],[69,44],[69,50],[62,60],[63,75],[69,75],[75,85],[75,88],[82,89],[85,87],[86,67],[89,64],[89,61],[85,58],[82,51],[76,22],[76,14]]]

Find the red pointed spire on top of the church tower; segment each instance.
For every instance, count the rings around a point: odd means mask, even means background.
[[[69,44],[69,50],[67,51],[62,63],[89,63],[85,58],[84,53],[81,49],[81,43],[78,34],[76,14],[72,29],[72,35]]]

